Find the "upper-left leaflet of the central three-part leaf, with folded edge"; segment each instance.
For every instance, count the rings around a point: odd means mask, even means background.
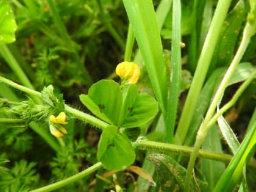
[[[118,125],[123,100],[121,88],[118,83],[113,80],[99,80],[99,82],[90,87],[88,97],[94,104],[98,105],[98,108],[92,105],[91,102],[87,103],[86,101],[88,99],[82,102],[94,115],[101,118],[102,115],[99,116],[99,114],[103,113],[110,119],[112,124]],[[83,98],[85,97],[83,96]]]

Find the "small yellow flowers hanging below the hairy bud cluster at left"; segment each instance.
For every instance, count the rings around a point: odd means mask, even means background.
[[[57,138],[62,138],[64,134],[68,134],[66,129],[62,126],[65,124],[68,124],[68,122],[66,122],[66,114],[64,112],[61,112],[57,117],[51,115],[49,118],[49,127],[51,134]]]

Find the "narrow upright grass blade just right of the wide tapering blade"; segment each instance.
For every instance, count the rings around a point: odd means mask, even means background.
[[[174,0],[172,4],[172,38],[171,38],[171,84],[168,94],[166,113],[166,141],[171,143],[176,122],[177,106],[180,95],[181,74],[181,3]]]

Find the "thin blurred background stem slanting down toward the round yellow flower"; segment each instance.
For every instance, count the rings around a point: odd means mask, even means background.
[[[101,18],[103,23],[105,24],[105,27],[107,27],[108,32],[112,35],[112,37],[116,40],[116,43],[120,46],[121,49],[125,49],[125,44],[122,38],[119,36],[119,34],[116,32],[112,24],[110,23],[110,20],[108,20],[108,16],[105,14],[104,9],[102,7],[101,0],[97,0],[97,4],[99,7],[99,12],[101,13]]]

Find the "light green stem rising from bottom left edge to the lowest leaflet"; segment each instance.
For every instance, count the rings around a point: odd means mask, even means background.
[[[81,171],[81,172],[77,173],[74,176],[71,176],[71,177],[68,177],[66,179],[60,180],[59,182],[56,182],[56,183],[52,183],[51,185],[47,185],[45,187],[41,187],[41,188],[38,188],[36,190],[32,190],[30,192],[47,192],[47,191],[57,190],[59,188],[62,188],[64,186],[70,184],[70,183],[76,182],[77,180],[88,176],[89,174],[93,173],[94,171],[98,170],[101,167],[102,167],[101,162],[95,163],[93,166],[90,166],[89,168],[85,169],[84,171]]]

